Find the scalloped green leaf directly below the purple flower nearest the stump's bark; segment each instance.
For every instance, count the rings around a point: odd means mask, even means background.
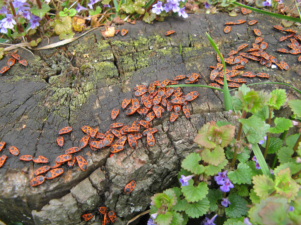
[[[199,201],[208,194],[209,188],[205,182],[200,182],[197,187],[193,186],[193,180],[189,180],[188,183],[188,186],[181,186],[183,195],[188,202]]]

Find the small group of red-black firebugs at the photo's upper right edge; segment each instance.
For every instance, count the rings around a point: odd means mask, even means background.
[[[281,26],[274,26],[275,29],[281,31],[281,32],[285,32],[286,35],[282,36],[279,41],[285,41],[285,40],[290,40],[290,43],[287,44],[287,46],[290,48],[290,50],[287,49],[283,49],[283,48],[278,48],[277,52],[281,52],[281,53],[290,53],[293,55],[296,54],[300,54],[301,53],[301,44],[299,44],[299,42],[301,42],[301,36],[296,34],[296,31],[293,29],[285,29]],[[301,62],[301,55],[298,57],[298,61]],[[286,68],[283,67],[283,69],[285,70]]]

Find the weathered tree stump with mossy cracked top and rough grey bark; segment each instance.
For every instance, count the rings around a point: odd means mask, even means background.
[[[7,143],[1,155],[9,155],[8,146],[14,145],[20,155],[43,155],[52,162],[64,150],[78,146],[83,125],[107,131],[112,123],[111,110],[120,109],[124,98],[133,98],[136,85],[149,85],[154,80],[172,79],[191,72],[201,74],[199,84],[209,84],[208,67],[216,64],[216,53],[206,39],[206,31],[226,55],[240,44],[252,44],[256,38],[253,28],[259,28],[268,43],[266,52],[275,55],[278,61],[286,61],[290,70],[281,72],[249,62],[245,71],[263,71],[270,74],[271,81],[290,82],[300,89],[300,82],[295,82],[300,78],[297,56],[275,53],[277,48],[286,45],[278,42],[281,34],[272,28],[279,24],[278,20],[252,15],[234,18],[225,13],[194,14],[189,19],[169,17],[165,22],[152,25],[137,21],[135,25],[118,27],[129,29],[124,37],[117,35],[106,40],[96,30],[68,45],[33,51],[35,57],[19,50],[18,54],[28,61],[28,67],[16,64],[0,77],[0,139]],[[224,22],[237,19],[259,22],[255,26],[232,26],[232,31],[225,34]],[[176,33],[165,37],[164,32],[171,29]],[[51,38],[51,41],[58,39]],[[89,58],[84,58],[87,53]],[[7,57],[0,61],[1,66],[6,60]],[[260,81],[256,77],[248,79],[249,84]],[[270,91],[275,85],[253,87]],[[280,88],[287,89],[286,86]],[[125,224],[144,211],[150,196],[172,184],[177,185],[182,159],[197,148],[192,142],[197,130],[210,120],[232,121],[227,113],[220,113],[223,99],[219,92],[195,87],[183,90],[200,93],[188,104],[191,119],[183,114],[173,124],[169,123],[169,114],[155,119],[153,125],[158,133],[154,135],[153,147],[142,138],[137,148],[127,145],[111,158],[108,148],[99,152],[84,148],[79,154],[88,162],[87,171],[65,168],[63,175],[37,187],[30,187],[29,180],[41,165],[8,156],[0,169],[0,220],[41,225],[82,224],[83,213],[107,206],[115,211],[116,224]],[[287,92],[290,98],[296,98],[292,89]],[[282,113],[287,114],[289,110],[284,109]],[[137,119],[142,118],[126,117],[121,111],[116,122],[131,125]],[[73,131],[64,135],[65,144],[61,149],[56,144],[57,131],[67,125],[73,127]],[[137,182],[136,187],[126,194],[124,187],[132,179]],[[95,224],[101,224],[99,215]]]

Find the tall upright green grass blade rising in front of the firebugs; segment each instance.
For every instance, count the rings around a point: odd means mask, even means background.
[[[216,44],[214,43],[213,39],[210,37],[210,35],[206,32],[207,38],[211,44],[211,46],[214,48],[214,50],[217,52],[219,57],[222,60],[223,68],[224,68],[224,102],[225,102],[225,111],[233,110],[233,105],[232,105],[232,98],[229,92],[227,80],[226,80],[226,65],[224,58],[222,54],[219,52],[219,49],[217,48]]]

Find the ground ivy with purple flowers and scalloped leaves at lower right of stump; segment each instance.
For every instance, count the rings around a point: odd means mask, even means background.
[[[181,163],[180,187],[151,197],[147,225],[184,225],[199,217],[204,225],[300,224],[301,136],[290,135],[283,144],[285,135],[281,139],[277,134],[301,127],[301,101],[287,103],[292,121],[274,118],[273,111],[286,102],[283,89],[267,93],[242,85],[232,100],[235,112],[229,114],[239,122],[237,133],[225,121],[203,125],[194,139],[200,149]],[[257,143],[265,157],[252,153]],[[275,169],[264,161],[271,154]]]

